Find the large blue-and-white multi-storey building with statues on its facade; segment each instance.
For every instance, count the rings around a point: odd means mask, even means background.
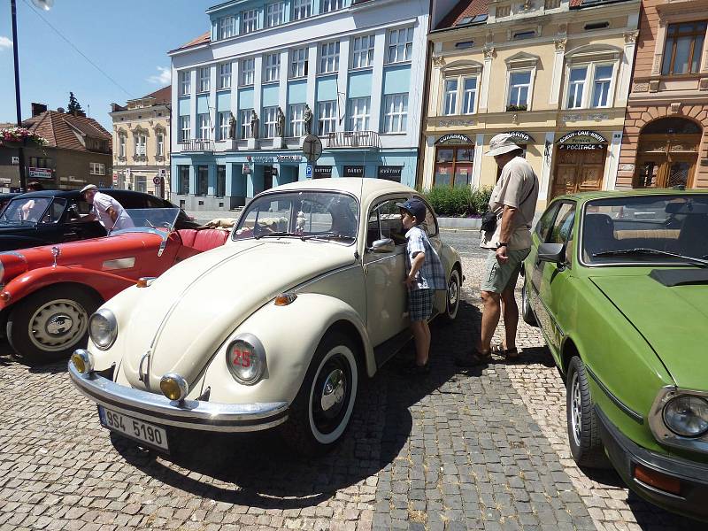
[[[415,184],[427,2],[233,0],[206,13],[211,30],[169,54],[175,202],[228,210],[309,178],[308,130],[323,146],[312,178]]]

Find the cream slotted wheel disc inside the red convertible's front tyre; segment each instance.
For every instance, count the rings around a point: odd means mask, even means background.
[[[86,311],[75,301],[60,299],[38,308],[29,319],[29,339],[41,350],[65,350],[88,326]]]

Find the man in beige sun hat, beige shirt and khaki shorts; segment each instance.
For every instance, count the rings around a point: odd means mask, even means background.
[[[481,281],[481,337],[477,350],[471,356],[458,358],[458,366],[474,366],[489,362],[492,352],[506,358],[518,358],[516,328],[519,325],[519,307],[514,298],[521,262],[531,250],[531,224],[538,198],[538,177],[523,150],[512,135],[496,135],[489,142],[489,151],[502,174],[489,198],[489,210],[495,212],[496,230],[485,233],[480,246],[489,249],[485,273]],[[506,341],[491,346],[492,336],[504,313]]]

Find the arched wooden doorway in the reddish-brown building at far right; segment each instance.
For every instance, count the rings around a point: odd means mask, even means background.
[[[702,127],[685,118],[656,119],[644,126],[635,188],[691,188],[702,134]]]

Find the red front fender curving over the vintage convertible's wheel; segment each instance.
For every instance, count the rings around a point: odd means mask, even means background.
[[[0,299],[0,310],[4,310],[12,306],[12,304],[16,304],[19,300],[35,293],[35,291],[39,289],[62,282],[83,284],[94,289],[104,301],[117,295],[123,289],[135,286],[135,281],[131,279],[121,277],[117,274],[86,269],[85,267],[40,267],[20,274],[7,283],[3,289],[3,293],[7,293],[10,298],[5,300],[4,297],[2,297]]]

